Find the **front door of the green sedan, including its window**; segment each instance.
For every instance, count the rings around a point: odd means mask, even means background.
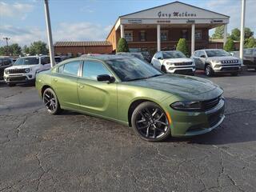
[[[81,77],[78,78],[81,110],[106,118],[118,118],[117,83],[98,82],[100,74],[113,76],[103,62],[90,59],[83,62]]]

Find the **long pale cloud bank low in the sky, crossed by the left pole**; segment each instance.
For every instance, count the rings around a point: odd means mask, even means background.
[[[101,41],[106,40],[112,26],[101,26],[90,22],[62,22],[52,30],[54,42],[58,41]],[[46,30],[35,26],[0,26],[0,36],[10,38],[10,43],[22,46],[34,41],[47,41]],[[3,45],[2,45],[3,46]]]

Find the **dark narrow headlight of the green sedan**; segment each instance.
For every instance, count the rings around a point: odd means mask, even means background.
[[[174,110],[201,110],[201,102],[174,102],[170,105]]]

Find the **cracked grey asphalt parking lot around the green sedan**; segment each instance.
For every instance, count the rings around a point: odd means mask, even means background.
[[[225,90],[222,126],[158,143],[115,122],[52,116],[34,86],[0,82],[0,191],[255,191],[256,73],[209,79]]]

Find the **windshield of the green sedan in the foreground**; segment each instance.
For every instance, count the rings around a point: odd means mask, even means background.
[[[106,61],[122,82],[152,78],[162,73],[138,58],[117,58]]]

